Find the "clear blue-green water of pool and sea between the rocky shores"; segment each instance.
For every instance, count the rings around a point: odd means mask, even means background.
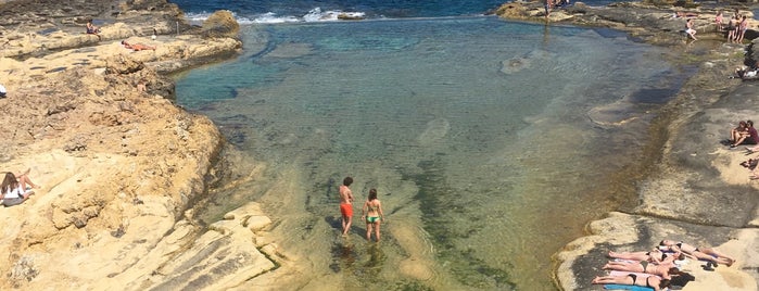
[[[690,74],[620,31],[498,18],[499,0],[172,2],[241,24],[239,55],[173,76],[176,102],[255,161],[205,219],[260,202],[300,266],[281,290],[557,290],[557,252],[636,203]]]

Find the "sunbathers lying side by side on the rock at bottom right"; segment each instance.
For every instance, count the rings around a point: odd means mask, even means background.
[[[611,271],[598,276],[593,284],[624,284],[648,287],[656,291],[670,287],[675,276],[690,276],[682,271],[681,265],[686,257],[707,261],[705,269],[713,270],[718,265],[732,266],[735,258],[713,248],[694,246],[683,241],[662,240],[659,245],[646,252],[613,252],[607,254],[613,261],[603,269]]]

